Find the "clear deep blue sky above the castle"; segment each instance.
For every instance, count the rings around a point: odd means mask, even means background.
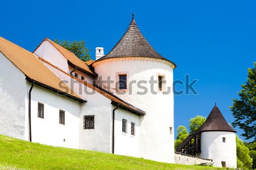
[[[175,96],[175,130],[229,106],[256,61],[255,1],[3,1],[0,36],[33,51],[44,39],[84,40],[105,54],[125,33],[134,12],[144,37],[175,62],[174,79],[198,79],[199,95]],[[184,87],[181,87],[184,88]],[[242,130],[235,128],[238,135]],[[243,137],[240,136],[244,140]]]

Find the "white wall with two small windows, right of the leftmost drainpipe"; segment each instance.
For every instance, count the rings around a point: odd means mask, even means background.
[[[31,83],[27,83],[29,90]],[[38,102],[44,104],[44,118],[38,117]],[[65,111],[65,125],[59,124],[59,111]],[[79,148],[79,101],[35,85],[31,92],[32,142]],[[64,142],[65,139],[65,142]]]

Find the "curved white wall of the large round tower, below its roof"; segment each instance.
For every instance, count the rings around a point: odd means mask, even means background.
[[[147,59],[151,59],[151,61]],[[170,65],[153,61],[152,58],[142,57],[116,60],[104,59],[94,66],[94,71],[104,80],[110,75],[114,82],[116,82],[118,72],[127,73],[129,82],[133,80],[137,80],[137,82],[138,80],[148,81],[151,76],[157,80],[158,74],[162,74],[166,77],[166,86],[172,89],[173,69]],[[139,154],[146,159],[174,163],[174,95],[172,91],[168,95],[163,95],[162,92],[157,92],[157,95],[154,95],[150,92],[149,83],[142,85],[148,89],[145,95],[137,94],[138,91],[142,92],[143,90],[139,89],[136,84],[129,87],[131,94],[129,92],[123,95],[118,94],[115,91],[115,84],[112,84],[108,89],[121,99],[146,111],[146,116],[142,116],[139,122]],[[157,91],[157,84],[154,86],[154,91]],[[171,132],[170,127],[172,127]]]

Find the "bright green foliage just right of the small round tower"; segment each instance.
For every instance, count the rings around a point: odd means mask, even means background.
[[[247,148],[241,139],[236,135],[237,143],[237,168],[250,169],[253,159],[250,158],[249,148]]]

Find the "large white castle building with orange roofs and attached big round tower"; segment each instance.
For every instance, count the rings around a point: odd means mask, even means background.
[[[174,163],[176,65],[134,18],[110,53],[96,48],[96,61],[49,39],[33,54],[0,38],[0,51],[0,134]]]

